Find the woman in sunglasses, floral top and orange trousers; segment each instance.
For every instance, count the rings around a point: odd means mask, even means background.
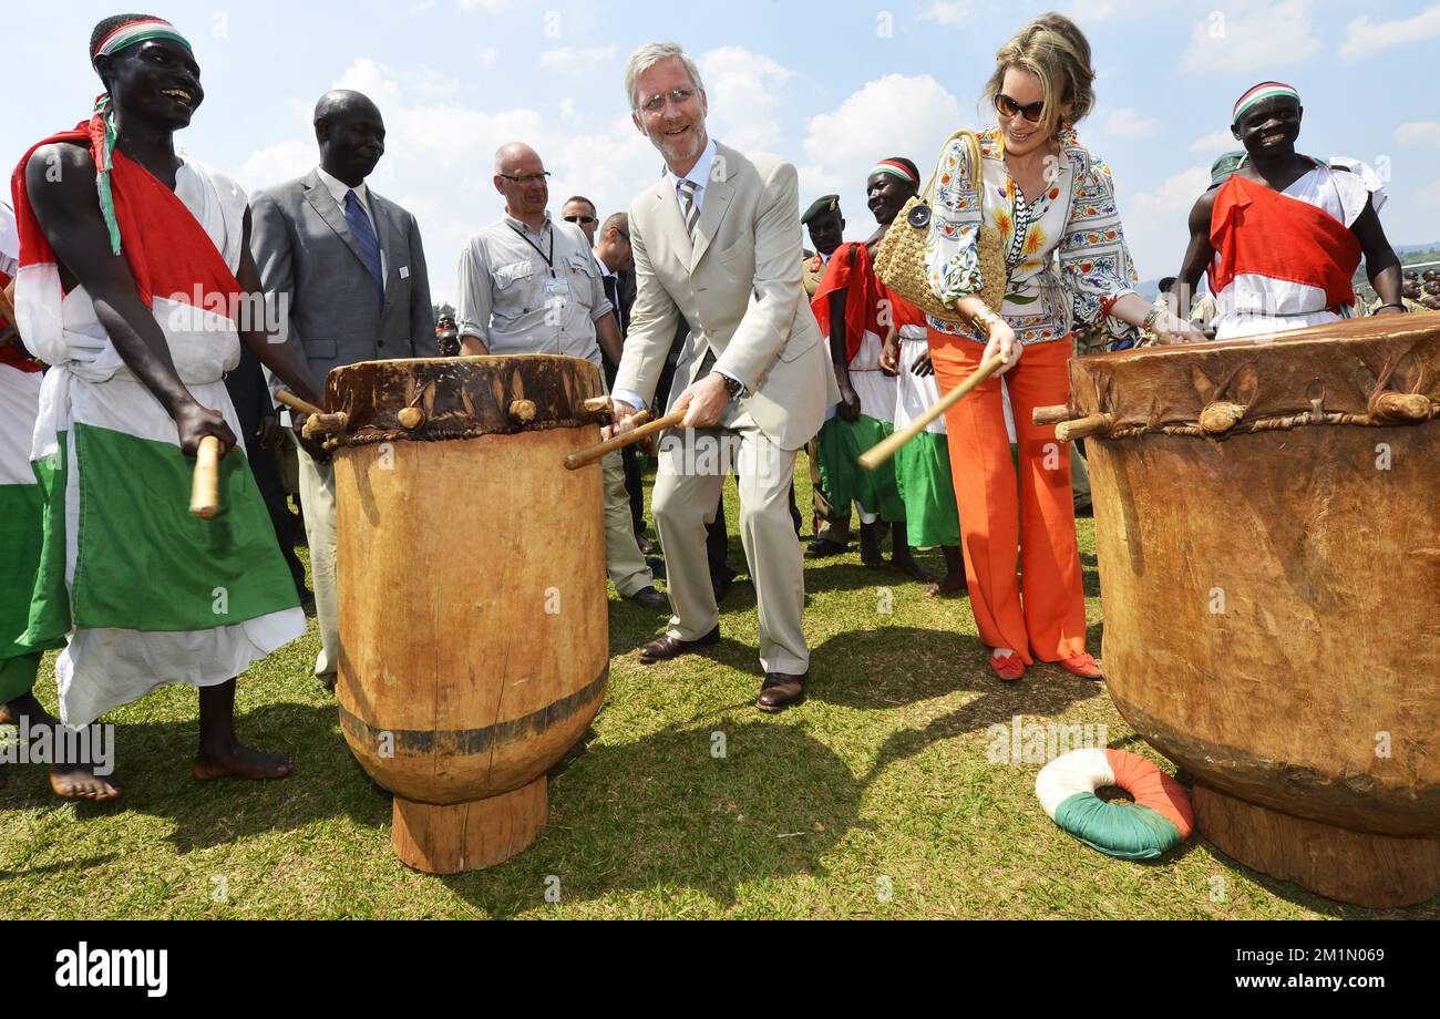
[[[1031,22],[996,53],[985,86],[998,125],[979,135],[984,193],[971,184],[963,141],[946,148],[936,183],[926,271],[935,295],[969,324],[930,318],[935,373],[950,391],[1002,355],[1020,442],[1017,478],[998,374],[946,417],[971,604],[1002,679],[1020,679],[1035,661],[1102,678],[1086,649],[1070,450],[1056,442],[1054,426],[1031,423],[1035,407],[1068,399],[1073,328],[1099,328],[1110,348],[1133,345],[1138,327],[1204,338],[1135,292],[1110,168],[1074,134],[1094,107],[1093,81],[1090,43],[1074,22]],[[982,216],[1004,248],[1001,315],[979,298]]]

